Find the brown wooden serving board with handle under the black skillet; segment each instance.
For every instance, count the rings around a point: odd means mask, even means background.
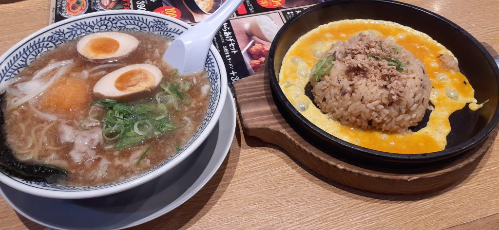
[[[234,84],[241,124],[246,134],[275,144],[295,160],[318,174],[343,185],[376,193],[410,194],[444,189],[465,179],[494,142],[498,127],[479,146],[450,160],[419,168],[383,168],[346,162],[327,154],[287,123],[277,109],[265,72]]]

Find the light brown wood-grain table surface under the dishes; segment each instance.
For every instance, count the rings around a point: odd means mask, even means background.
[[[405,1],[499,50],[498,0]],[[0,54],[48,24],[48,4],[0,0]],[[133,229],[499,229],[498,141],[469,177],[449,189],[382,195],[324,179],[279,148],[246,136],[238,123],[229,155],[210,182],[179,208]],[[0,220],[0,229],[44,228],[1,198]]]

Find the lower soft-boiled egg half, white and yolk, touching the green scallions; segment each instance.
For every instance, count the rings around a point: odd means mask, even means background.
[[[117,69],[102,77],[93,92],[99,99],[130,102],[146,98],[161,83],[161,70],[150,64],[135,64]]]

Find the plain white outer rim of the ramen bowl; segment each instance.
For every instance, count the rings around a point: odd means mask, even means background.
[[[21,41],[17,42],[15,45],[13,45],[11,48],[9,48],[5,53],[3,53],[0,56],[0,64],[5,60],[5,58],[10,55],[14,50],[16,50],[18,47],[20,47],[23,43],[26,41],[29,41],[33,39],[35,36],[42,34],[48,30],[54,29],[60,25],[66,24],[66,23],[71,23],[73,21],[81,20],[83,18],[88,18],[88,17],[94,17],[94,16],[105,16],[109,14],[127,14],[127,15],[148,15],[148,16],[154,16],[154,17],[159,17],[168,21],[172,21],[174,23],[177,23],[187,29],[192,27],[191,25],[176,19],[174,17],[170,17],[164,14],[156,13],[156,12],[149,12],[149,11],[141,11],[141,10],[130,10],[130,9],[115,9],[115,10],[107,10],[107,11],[98,11],[98,12],[92,12],[92,13],[87,13],[79,16],[74,16],[71,18],[64,19],[62,21],[56,22],[54,24],[45,26],[39,30],[37,30],[34,33],[31,33],[29,36],[25,37]],[[180,153],[177,155],[174,159],[172,159],[170,162],[167,164],[161,166],[160,168],[144,175],[141,176],[137,179],[110,186],[110,187],[105,187],[105,188],[99,188],[99,189],[94,189],[94,190],[89,190],[89,191],[53,191],[53,190],[47,190],[47,189],[42,189],[42,188],[37,188],[30,186],[28,184],[16,181],[11,179],[9,176],[6,176],[3,172],[0,172],[0,182],[16,189],[21,192],[25,192],[31,195],[35,196],[41,196],[41,197],[46,197],[46,198],[55,198],[55,199],[85,199],[85,198],[94,198],[94,197],[101,197],[101,196],[106,196],[106,195],[111,195],[115,193],[119,193],[131,188],[134,188],[136,186],[142,185],[148,181],[151,181],[160,175],[163,175],[165,172],[169,171],[173,167],[177,166],[180,162],[182,162],[185,158],[187,158],[189,155],[191,155],[194,150],[196,150],[201,143],[208,137],[208,135],[211,133],[213,128],[218,122],[218,118],[220,117],[222,110],[224,109],[224,104],[225,104],[225,99],[227,97],[226,91],[228,88],[228,83],[227,83],[227,72],[225,68],[224,61],[222,60],[222,57],[220,56],[220,53],[218,52],[217,48],[212,44],[210,47],[210,51],[213,53],[213,57],[215,58],[215,61],[218,63],[217,67],[220,70],[220,79],[221,79],[221,88],[220,91],[223,92],[220,94],[220,98],[218,99],[218,105],[215,109],[215,112],[213,113],[213,116],[211,120],[207,123],[205,129],[200,133],[198,138],[196,138],[193,143],[186,149],[184,152]]]

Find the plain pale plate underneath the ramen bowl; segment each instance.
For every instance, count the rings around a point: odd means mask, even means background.
[[[22,216],[54,229],[133,227],[172,211],[201,190],[227,156],[235,130],[236,109],[228,91],[219,122],[199,148],[139,187],[104,197],[63,200],[30,195],[0,183],[0,194]]]

